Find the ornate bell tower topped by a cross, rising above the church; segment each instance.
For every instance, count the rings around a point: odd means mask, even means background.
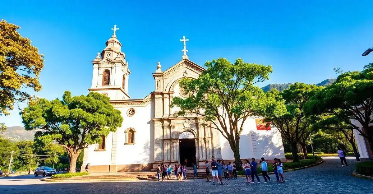
[[[110,100],[126,100],[128,95],[128,78],[131,73],[126,62],[126,55],[120,49],[122,44],[116,37],[116,25],[113,35],[106,41],[106,48],[97,53],[92,61],[93,76],[89,91],[95,91],[110,97]]]

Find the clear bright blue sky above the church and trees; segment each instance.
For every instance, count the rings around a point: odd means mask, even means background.
[[[6,9],[4,9],[6,8]],[[335,78],[334,67],[360,70],[373,62],[373,1],[6,1],[0,19],[21,26],[19,33],[44,54],[40,74],[49,100],[69,90],[87,94],[96,53],[117,25],[126,53],[129,95],[154,90],[151,73],[181,60],[182,36],[189,59],[203,66],[225,57],[232,62],[272,65],[270,80],[258,84]],[[19,104],[25,107],[25,104]],[[7,126],[22,126],[19,110],[0,116]]]

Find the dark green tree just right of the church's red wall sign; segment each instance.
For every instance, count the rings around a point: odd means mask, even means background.
[[[307,137],[310,132],[310,123],[304,116],[303,106],[313,94],[322,87],[295,83],[289,89],[279,92],[271,90],[267,92],[268,96],[274,96],[277,100],[284,100],[286,105],[285,114],[276,109],[270,109],[265,113],[265,121],[272,125],[281,133],[282,137],[291,145],[293,162],[299,162],[297,144]],[[306,139],[306,138],[305,138]],[[305,140],[304,140],[305,142]]]

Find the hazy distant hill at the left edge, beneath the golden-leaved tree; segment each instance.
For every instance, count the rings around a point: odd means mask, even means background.
[[[22,126],[10,126],[0,136],[10,141],[27,141],[34,140],[34,134],[34,131],[26,131]]]

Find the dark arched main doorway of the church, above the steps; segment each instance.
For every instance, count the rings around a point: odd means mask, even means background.
[[[197,155],[195,150],[195,137],[190,131],[184,131],[179,135],[179,162],[191,167],[192,163],[197,164]]]

